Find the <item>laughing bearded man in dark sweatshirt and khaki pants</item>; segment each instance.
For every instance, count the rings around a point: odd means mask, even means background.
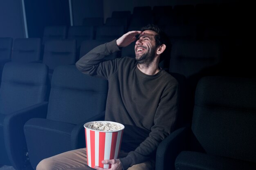
[[[135,59],[103,61],[135,40]],[[119,159],[102,161],[111,163],[110,170],[153,170],[157,146],[175,130],[179,85],[158,67],[165,49],[162,32],[148,25],[94,48],[76,63],[81,72],[108,80],[105,120],[125,126]],[[85,148],[68,151],[44,159],[37,170],[90,169],[85,158]]]

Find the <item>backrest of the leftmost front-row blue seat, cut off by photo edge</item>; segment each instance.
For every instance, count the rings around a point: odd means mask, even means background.
[[[45,101],[47,76],[48,68],[42,63],[6,63],[0,87],[0,113],[13,113]]]

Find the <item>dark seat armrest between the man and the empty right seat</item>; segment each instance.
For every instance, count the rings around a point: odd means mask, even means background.
[[[157,147],[155,170],[175,170],[177,155],[186,150],[191,130],[182,127],[167,136]]]

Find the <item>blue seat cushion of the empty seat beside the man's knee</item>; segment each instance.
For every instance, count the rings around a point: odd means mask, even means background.
[[[33,118],[26,122],[24,133],[33,168],[42,159],[71,150],[70,135],[74,126],[43,118]]]

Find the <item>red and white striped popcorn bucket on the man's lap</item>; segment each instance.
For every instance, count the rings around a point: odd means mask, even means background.
[[[97,121],[97,123],[110,123],[121,126],[117,131],[99,131],[88,128],[94,122],[87,122],[85,128],[85,141],[87,150],[87,164],[91,168],[99,166],[101,168],[111,168],[111,164],[103,164],[102,160],[117,159],[124,131],[124,125],[117,122]]]

